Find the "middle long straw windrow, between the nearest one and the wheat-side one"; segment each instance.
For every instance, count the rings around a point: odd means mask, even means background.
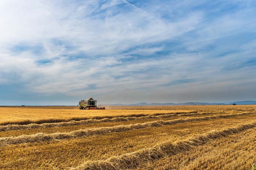
[[[249,114],[255,114],[255,113],[248,112],[248,113],[237,113],[237,114],[227,114],[227,115],[215,115],[215,116],[207,116],[207,117],[179,118],[179,119],[168,120],[168,121],[159,120],[159,121],[153,121],[153,122],[146,122],[142,124],[129,124],[129,125],[119,125],[119,126],[113,126],[113,127],[82,129],[82,130],[71,131],[67,133],[52,133],[52,134],[37,133],[34,135],[4,137],[4,138],[0,138],[0,146],[21,144],[21,143],[44,142],[44,141],[60,140],[60,139],[67,139],[67,138],[79,138],[79,137],[87,137],[92,135],[104,135],[104,134],[109,134],[111,132],[129,131],[132,129],[141,129],[141,128],[147,128],[147,127],[161,127],[163,125],[172,125],[172,124],[192,122],[192,121],[203,121],[203,120],[211,120],[211,119],[218,119],[218,118],[243,116],[243,115],[249,115]]]

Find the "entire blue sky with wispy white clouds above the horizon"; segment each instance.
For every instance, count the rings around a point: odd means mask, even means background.
[[[0,105],[256,100],[256,1],[0,2]]]

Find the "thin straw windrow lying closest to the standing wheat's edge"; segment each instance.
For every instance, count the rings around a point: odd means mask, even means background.
[[[141,117],[114,117],[112,119],[88,119],[80,121],[70,121],[70,122],[60,122],[60,123],[44,123],[44,124],[9,124],[0,126],[0,131],[12,131],[12,130],[26,130],[26,129],[41,129],[48,127],[64,127],[64,126],[76,126],[76,125],[85,125],[85,124],[94,124],[102,122],[121,122],[121,121],[132,121],[132,120],[143,120],[143,119],[155,119],[155,118],[169,118],[177,116],[195,116],[195,115],[208,115],[213,114],[214,112],[208,113],[187,113],[187,114],[161,114],[158,116],[141,116]]]

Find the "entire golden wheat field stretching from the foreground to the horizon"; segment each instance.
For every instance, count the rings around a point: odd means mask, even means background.
[[[256,106],[0,107],[0,169],[252,169]]]

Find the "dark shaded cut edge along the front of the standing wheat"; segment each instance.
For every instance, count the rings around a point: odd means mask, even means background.
[[[178,111],[178,112],[166,112],[166,113],[142,113],[142,114],[126,114],[119,115],[118,117],[142,117],[142,116],[158,116],[158,115],[169,115],[169,114],[188,114],[188,113],[197,113],[197,111]],[[104,115],[104,116],[92,116],[92,117],[70,117],[66,119],[60,118],[51,118],[51,119],[40,119],[40,120],[21,120],[21,121],[8,121],[2,122],[0,125],[9,125],[9,124],[19,124],[19,125],[27,125],[27,124],[44,124],[44,123],[58,123],[58,122],[70,122],[70,121],[81,121],[81,120],[89,120],[89,119],[103,119],[103,118],[115,118],[117,116],[112,115]]]

